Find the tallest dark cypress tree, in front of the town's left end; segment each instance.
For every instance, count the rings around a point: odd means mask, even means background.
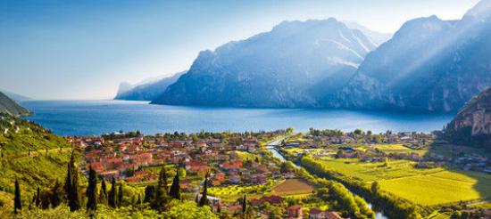
[[[68,163],[67,175],[65,179],[65,192],[67,194],[68,206],[71,211],[79,210],[79,170],[75,163],[74,151],[71,152],[70,162]]]

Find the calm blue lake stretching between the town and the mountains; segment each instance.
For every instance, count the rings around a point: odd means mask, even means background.
[[[61,135],[99,135],[139,130],[144,134],[196,133],[201,130],[272,131],[310,127],[375,133],[430,132],[442,129],[452,115],[402,114],[358,110],[235,109],[151,105],[143,101],[23,101],[36,115],[27,117]]]

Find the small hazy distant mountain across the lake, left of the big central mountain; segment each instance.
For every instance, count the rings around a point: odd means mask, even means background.
[[[176,82],[184,73],[186,73],[186,71],[176,73],[171,77],[146,80],[134,86],[129,85],[128,83],[121,83],[118,94],[114,100],[153,101],[155,98],[162,95],[162,93],[165,92],[165,89]]]

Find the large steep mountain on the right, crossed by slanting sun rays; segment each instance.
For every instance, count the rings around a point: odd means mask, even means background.
[[[406,22],[323,106],[454,112],[491,85],[491,0],[462,20]]]

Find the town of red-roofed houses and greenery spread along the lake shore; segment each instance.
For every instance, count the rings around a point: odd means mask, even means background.
[[[146,136],[139,132],[115,132],[66,139],[84,151],[82,173],[87,175],[92,168],[107,181],[114,178],[140,191],[156,183],[159,170],[165,166],[171,170],[170,176],[179,172],[183,197],[197,199],[209,175],[206,182],[212,212],[229,216],[245,211],[243,203],[247,199],[255,217],[349,217],[349,213],[333,204],[329,191],[312,182],[312,175],[295,167],[295,164],[301,165],[297,161],[304,157],[337,166],[334,170],[345,176],[353,171],[365,182],[379,180],[362,178],[362,171],[370,170],[362,168],[370,164],[387,167],[386,170],[376,167],[380,173],[440,170],[449,165],[462,171],[482,173],[490,169],[490,160],[476,153],[456,158],[452,153],[444,155],[430,150],[430,144],[437,145],[435,134],[423,133],[371,134],[362,130],[344,133],[311,129],[307,134],[279,130]],[[268,142],[278,143],[266,147]],[[270,150],[278,151],[292,162],[282,162]]]

